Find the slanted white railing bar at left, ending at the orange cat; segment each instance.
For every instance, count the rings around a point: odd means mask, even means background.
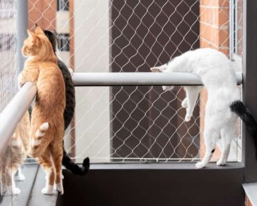
[[[19,121],[24,116],[26,110],[31,105],[37,89],[33,83],[26,83],[22,89],[17,92],[15,97],[8,103],[6,108],[0,114],[0,155],[6,148],[10,137]]]

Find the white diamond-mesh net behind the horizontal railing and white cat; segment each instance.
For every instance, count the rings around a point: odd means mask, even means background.
[[[224,52],[240,68],[241,0],[29,0],[28,15],[29,28],[56,29],[60,56],[75,72],[149,71],[199,47]],[[78,162],[197,160],[204,154],[207,95],[188,123],[184,96],[182,87],[76,88],[67,151]],[[229,160],[240,160],[240,124]]]

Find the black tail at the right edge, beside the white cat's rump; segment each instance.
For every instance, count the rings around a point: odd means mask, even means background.
[[[254,119],[254,116],[251,114],[250,110],[242,103],[242,101],[233,101],[230,105],[231,111],[235,112],[244,121],[247,129],[251,133],[251,136],[254,138],[255,148],[257,150],[257,121]],[[257,159],[257,151],[256,151]]]

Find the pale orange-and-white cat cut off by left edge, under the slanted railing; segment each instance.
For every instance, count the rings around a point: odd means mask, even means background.
[[[29,114],[26,112],[18,123],[10,143],[0,157],[1,194],[19,194],[21,191],[15,186],[14,175],[26,159],[28,150]],[[21,171],[18,180],[24,180]]]

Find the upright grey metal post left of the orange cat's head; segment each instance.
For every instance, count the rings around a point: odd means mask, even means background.
[[[22,45],[27,37],[28,28],[28,0],[17,0],[17,67],[20,73],[24,67],[25,58],[22,56]]]

